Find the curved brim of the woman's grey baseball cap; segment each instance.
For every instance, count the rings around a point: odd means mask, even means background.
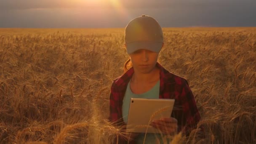
[[[162,42],[133,42],[126,45],[128,54],[131,54],[139,49],[147,49],[159,53],[162,48]]]

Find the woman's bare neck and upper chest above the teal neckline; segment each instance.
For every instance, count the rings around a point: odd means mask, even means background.
[[[149,73],[141,73],[136,71],[136,69],[134,69],[134,73],[133,76],[131,77],[131,81],[133,83],[152,83],[155,82],[157,80],[159,80],[159,69],[157,67],[155,67],[151,72]]]

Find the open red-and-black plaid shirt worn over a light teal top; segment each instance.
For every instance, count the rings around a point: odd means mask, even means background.
[[[168,72],[159,63],[156,66],[160,68],[159,99],[175,99],[171,117],[177,119],[178,131],[188,135],[192,129],[196,128],[196,124],[200,120],[196,101],[188,82],[186,79]],[[109,120],[116,126],[125,126],[122,118],[123,98],[133,72],[132,67],[112,83],[109,97]]]

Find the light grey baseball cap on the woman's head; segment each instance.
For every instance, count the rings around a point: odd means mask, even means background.
[[[163,45],[162,27],[151,16],[139,16],[125,27],[125,44],[128,54],[139,49],[159,53]]]

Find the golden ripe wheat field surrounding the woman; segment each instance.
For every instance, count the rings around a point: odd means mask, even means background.
[[[205,139],[256,143],[256,28],[163,28],[159,62],[185,77]],[[128,59],[124,29],[0,29],[0,143],[110,144],[112,80]]]

